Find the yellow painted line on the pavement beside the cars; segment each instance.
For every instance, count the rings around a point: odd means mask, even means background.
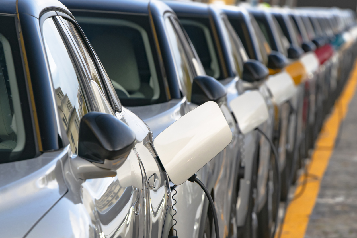
[[[341,96],[337,99],[331,115],[322,127],[311,156],[308,173],[316,176],[316,179],[308,179],[305,192],[289,204],[282,224],[281,238],[303,238],[305,236],[310,215],[320,190],[321,179],[332,155],[341,121],[346,117],[348,105],[356,91],[357,63],[352,69]],[[301,191],[303,180],[304,176],[302,175],[297,182],[299,185],[295,190],[295,195]]]

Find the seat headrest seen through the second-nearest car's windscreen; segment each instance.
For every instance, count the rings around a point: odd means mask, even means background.
[[[111,80],[127,91],[140,88],[139,69],[130,40],[116,34],[97,35],[91,41]]]

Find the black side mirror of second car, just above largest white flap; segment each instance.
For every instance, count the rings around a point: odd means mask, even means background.
[[[226,100],[226,88],[211,76],[197,76],[193,79],[191,102],[201,105],[208,101],[221,105]]]

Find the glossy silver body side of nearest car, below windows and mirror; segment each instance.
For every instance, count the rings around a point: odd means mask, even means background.
[[[74,156],[66,147],[62,162],[69,191],[27,237],[161,237],[162,232],[167,236],[163,226],[166,215],[171,224],[170,189],[151,147],[150,130],[125,107],[116,116],[137,138],[117,176],[76,179],[71,172]]]

